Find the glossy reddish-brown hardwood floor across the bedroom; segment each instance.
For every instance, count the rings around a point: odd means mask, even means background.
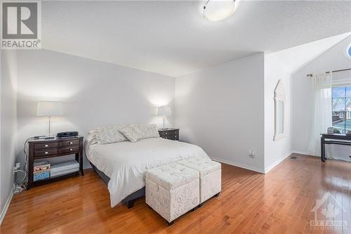
[[[288,157],[268,174],[223,164],[222,193],[173,226],[145,204],[110,207],[107,187],[92,170],[15,195],[1,233],[351,233],[351,164]],[[348,226],[311,230],[316,199]]]

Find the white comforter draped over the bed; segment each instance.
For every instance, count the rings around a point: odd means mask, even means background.
[[[87,145],[86,155],[95,167],[110,177],[111,207],[145,186],[147,169],[188,157],[208,158],[197,145],[164,138]]]

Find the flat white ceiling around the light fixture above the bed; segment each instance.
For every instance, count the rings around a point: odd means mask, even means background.
[[[43,1],[43,48],[178,77],[351,31],[351,1],[241,1],[202,18],[204,1]]]

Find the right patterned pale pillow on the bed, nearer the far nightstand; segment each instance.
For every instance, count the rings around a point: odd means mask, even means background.
[[[121,133],[131,142],[144,138],[159,137],[156,124],[129,124],[121,129]]]

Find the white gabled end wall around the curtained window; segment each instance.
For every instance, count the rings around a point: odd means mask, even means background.
[[[347,45],[351,43],[351,36],[343,39],[321,56],[308,63],[301,70],[293,75],[293,113],[292,113],[292,148],[293,152],[301,152],[312,155],[308,149],[308,139],[310,124],[312,124],[313,115],[313,98],[312,98],[312,80],[306,77],[310,73],[323,73],[329,70],[340,70],[351,67],[351,60],[345,57]],[[333,77],[338,77],[340,73],[334,73]],[[351,73],[348,73],[348,79],[351,79]],[[334,146],[336,157],[350,160],[350,148],[342,145]],[[328,155],[327,155],[328,156]]]

